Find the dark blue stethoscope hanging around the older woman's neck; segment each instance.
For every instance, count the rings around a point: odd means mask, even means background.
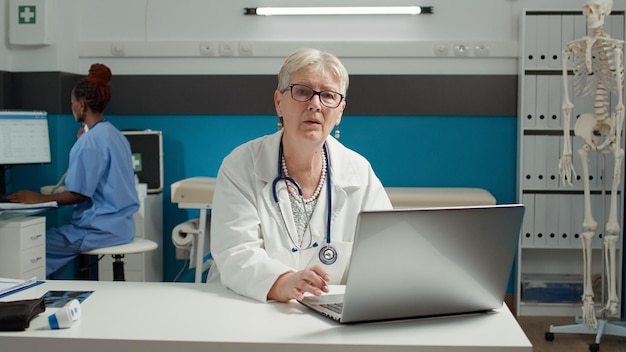
[[[337,250],[333,246],[330,245],[330,219],[332,215],[332,186],[331,186],[331,178],[330,178],[330,161],[328,159],[328,148],[326,147],[326,143],[324,143],[324,158],[326,159],[326,189],[328,191],[328,213],[327,213],[327,219],[326,219],[326,245],[320,249],[318,253],[318,257],[320,259],[320,262],[326,265],[330,265],[337,260]],[[293,237],[289,233],[289,229],[287,228],[287,222],[285,221],[283,212],[280,209],[280,202],[278,201],[278,192],[276,192],[276,184],[279,181],[291,182],[291,184],[293,184],[296,187],[301,199],[303,195],[302,195],[302,187],[300,187],[300,185],[296,182],[296,180],[294,180],[293,178],[289,176],[283,176],[282,169],[281,169],[282,160],[283,160],[283,143],[281,142],[280,147],[278,148],[278,177],[276,177],[274,181],[272,182],[272,195],[274,196],[274,201],[276,202],[276,205],[278,205],[278,212],[280,213],[280,217],[283,219],[283,224],[285,225],[285,229],[287,230],[289,239],[291,240],[291,243],[293,244],[291,251],[297,252],[298,250],[316,248],[319,245],[317,244],[317,242],[313,242],[313,234],[311,233],[310,224],[307,224],[307,228],[309,230],[309,233],[311,234],[311,242],[313,243],[310,243],[307,247],[304,247],[304,248],[302,246],[299,246],[294,241]],[[309,219],[309,222],[310,222],[310,219]]]

